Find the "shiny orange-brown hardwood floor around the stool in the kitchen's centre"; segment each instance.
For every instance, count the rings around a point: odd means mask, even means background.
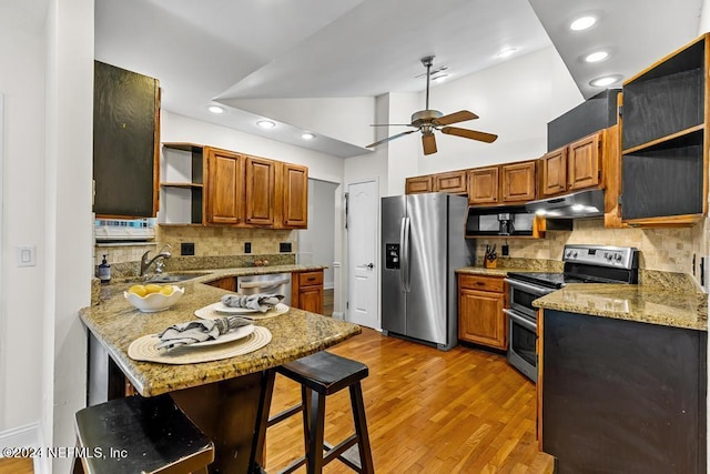
[[[535,384],[504,355],[465,346],[442,352],[369,329],[328,351],[369,366],[363,392],[377,473],[552,472],[552,457],[537,451]],[[298,386],[278,375],[272,414],[298,397]],[[345,390],[327,400],[326,440],[335,444],[352,432]],[[268,472],[302,454],[300,415],[268,428]],[[325,472],[352,471],[334,461]]]

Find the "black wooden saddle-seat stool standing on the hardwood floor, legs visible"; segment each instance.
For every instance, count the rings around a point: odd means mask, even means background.
[[[308,474],[321,473],[323,466],[337,458],[352,470],[365,474],[375,472],[369,450],[369,436],[365,421],[365,404],[361,381],[368,375],[367,365],[341,357],[329,352],[317,352],[276,367],[276,372],[301,384],[301,403],[267,422],[272,426],[303,411],[303,430],[306,455],[292,462],[282,473],[291,473],[306,464]],[[326,396],[348,387],[355,433],[332,446],[323,440],[325,431]],[[343,454],[357,445],[359,465]],[[327,451],[325,456],[323,451]]]

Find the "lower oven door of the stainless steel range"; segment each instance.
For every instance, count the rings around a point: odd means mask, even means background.
[[[537,323],[514,310],[508,315],[508,362],[532,382],[537,382]]]

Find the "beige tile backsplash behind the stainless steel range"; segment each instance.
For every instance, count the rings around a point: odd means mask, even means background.
[[[589,219],[575,221],[572,231],[548,231],[545,239],[508,239],[507,243],[510,256],[551,260],[561,260],[568,243],[636,246],[640,251],[641,269],[693,274],[693,270],[700,271],[700,258],[708,254],[707,226],[706,220],[691,228],[605,229],[601,219]],[[500,248],[506,240],[477,240],[476,256],[483,256],[487,243]]]

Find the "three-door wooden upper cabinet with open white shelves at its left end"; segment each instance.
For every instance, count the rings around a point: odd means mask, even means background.
[[[306,167],[192,143],[164,143],[162,165],[161,224],[307,226]]]

